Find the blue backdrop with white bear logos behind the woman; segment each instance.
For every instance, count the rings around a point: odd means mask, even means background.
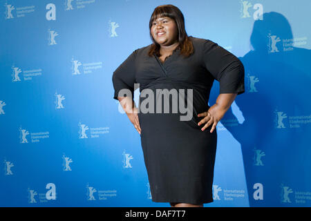
[[[152,43],[151,13],[169,3],[189,36],[245,66],[245,93],[216,128],[205,206],[311,206],[309,0],[1,1],[0,206],[169,206],[151,201],[111,78]]]

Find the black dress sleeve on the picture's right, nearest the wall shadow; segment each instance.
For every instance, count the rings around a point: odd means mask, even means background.
[[[240,59],[213,41],[204,41],[203,65],[219,81],[221,93],[245,92],[244,66]]]

